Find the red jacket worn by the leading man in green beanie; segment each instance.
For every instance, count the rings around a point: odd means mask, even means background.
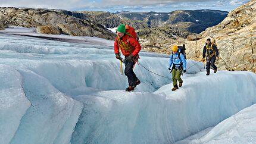
[[[129,51],[126,51],[126,49],[122,48],[121,45],[118,45],[118,38],[116,37],[114,43],[115,54],[119,52],[119,48],[121,49],[121,52],[124,56],[129,56],[132,54],[134,57],[136,57],[139,54],[139,51],[141,51],[141,45],[139,45],[139,42],[129,35],[124,35],[121,37],[120,42],[124,42],[126,45],[132,46],[133,48],[129,49]]]

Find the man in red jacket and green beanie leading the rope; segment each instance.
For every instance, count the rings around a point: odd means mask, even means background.
[[[124,24],[120,24],[120,26],[118,26],[117,37],[115,38],[114,43],[115,58],[122,60],[119,54],[119,48],[124,55],[124,65],[126,67],[124,69],[124,74],[127,76],[129,83],[126,91],[132,91],[141,83],[133,71],[133,65],[135,65],[139,58],[138,54],[139,51],[141,51],[141,45],[139,45],[139,42],[135,37],[126,33],[126,26],[124,26]]]

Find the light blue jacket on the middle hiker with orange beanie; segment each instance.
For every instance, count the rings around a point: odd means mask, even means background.
[[[183,63],[183,70],[186,70],[187,65],[186,65],[186,60],[183,54],[180,54],[180,59],[179,59],[179,52],[177,52],[176,54],[170,55],[170,62],[169,62],[170,67],[173,64],[175,64],[175,67],[179,67],[181,63]]]

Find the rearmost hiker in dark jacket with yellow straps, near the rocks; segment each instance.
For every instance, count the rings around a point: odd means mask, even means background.
[[[211,67],[213,67],[214,73],[217,72],[217,67],[214,63],[216,60],[218,60],[218,49],[214,43],[211,43],[211,39],[207,39],[206,42],[207,43],[205,43],[204,49],[202,51],[202,61],[205,61],[206,57],[206,75],[209,76]]]

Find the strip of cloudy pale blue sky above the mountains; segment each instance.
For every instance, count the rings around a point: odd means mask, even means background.
[[[0,0],[0,7],[49,8],[68,11],[157,11],[223,10],[231,11],[249,0]]]

